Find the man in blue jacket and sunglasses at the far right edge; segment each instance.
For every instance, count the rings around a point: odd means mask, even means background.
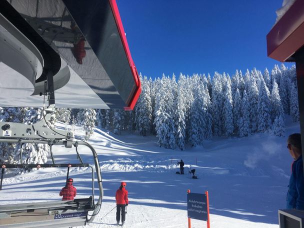
[[[287,209],[302,210],[304,209],[304,173],[301,134],[290,134],[287,139],[287,148],[294,161],[291,165],[286,207]]]

